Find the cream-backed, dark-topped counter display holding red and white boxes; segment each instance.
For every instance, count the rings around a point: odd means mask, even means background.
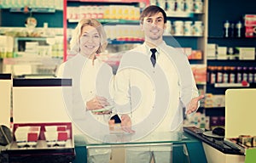
[[[13,79],[13,137],[3,151],[10,162],[71,162],[73,123],[67,114],[71,79]],[[63,91],[69,98],[63,98]]]

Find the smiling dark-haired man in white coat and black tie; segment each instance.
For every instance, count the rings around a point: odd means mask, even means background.
[[[184,53],[166,45],[166,13],[148,6],[140,16],[143,45],[125,53],[115,76],[116,110],[125,132],[182,131],[183,113],[198,109],[194,76]],[[183,109],[185,111],[183,111]],[[142,132],[145,131],[145,132]],[[172,148],[128,149],[126,162],[172,162]]]

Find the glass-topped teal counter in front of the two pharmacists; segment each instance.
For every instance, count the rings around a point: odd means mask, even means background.
[[[85,135],[74,135],[76,158],[73,163],[87,162],[90,149],[169,149],[172,150],[172,162],[205,163],[206,155],[201,141],[185,132],[152,132],[143,138],[136,133],[115,133],[104,136],[103,141],[90,141]],[[115,154],[112,154],[115,156]],[[125,158],[122,158],[125,162]],[[115,161],[113,161],[115,162]]]

